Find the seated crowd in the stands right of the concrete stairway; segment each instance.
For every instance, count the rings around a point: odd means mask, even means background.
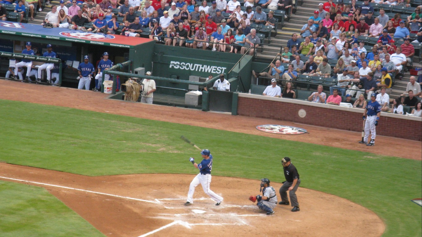
[[[422,97],[420,75],[417,82],[414,76],[411,77],[409,84],[412,87],[408,86],[401,97],[390,99],[389,94],[394,79],[401,79],[413,63],[415,49],[412,43],[422,42],[421,6],[408,16],[397,13],[390,19],[382,8],[383,3],[409,6],[410,1],[373,0],[372,3],[381,4],[376,17],[369,0],[361,5],[355,0],[350,5],[344,5],[342,0],[338,4],[332,0],[319,3],[300,34],[292,34],[284,52],[279,54],[279,62],[284,66],[276,62],[270,65],[268,73],[253,71],[253,75],[255,78],[281,78],[283,85],[286,81],[295,81],[298,75],[332,78],[335,85],[330,86],[330,95],[319,85],[317,92],[308,98],[313,102],[334,105],[346,102],[365,108],[366,100],[376,93],[382,111],[403,113],[399,109],[402,104],[417,107]],[[369,43],[370,40],[373,43]],[[286,64],[289,70],[285,70]],[[292,71],[296,75],[292,75]]]

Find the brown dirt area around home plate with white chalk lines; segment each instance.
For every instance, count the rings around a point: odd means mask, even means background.
[[[304,188],[297,191],[299,212],[277,205],[267,216],[248,200],[260,194],[260,180],[213,176],[211,190],[224,198],[221,205],[199,185],[194,204],[184,206],[196,174],[87,177],[4,163],[0,168],[0,176],[43,183],[28,184],[46,188],[107,236],[379,237],[384,232],[380,218],[365,207]],[[281,183],[271,186],[278,193]]]

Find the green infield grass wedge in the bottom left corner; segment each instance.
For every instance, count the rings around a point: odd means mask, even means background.
[[[43,188],[0,181],[0,236],[102,237]]]

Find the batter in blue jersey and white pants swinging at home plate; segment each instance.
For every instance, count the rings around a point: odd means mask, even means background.
[[[193,166],[199,169],[199,174],[193,178],[192,182],[189,186],[189,192],[187,194],[187,202],[184,204],[185,206],[193,204],[193,193],[195,192],[195,187],[198,184],[202,185],[202,189],[204,190],[205,194],[210,196],[214,201],[216,201],[216,206],[220,205],[223,201],[223,198],[211,191],[210,184],[211,184],[211,169],[212,169],[212,155],[209,150],[205,149],[201,151],[202,155],[202,162],[200,164],[196,164],[195,160],[191,157],[189,158],[189,162],[192,162]]]

